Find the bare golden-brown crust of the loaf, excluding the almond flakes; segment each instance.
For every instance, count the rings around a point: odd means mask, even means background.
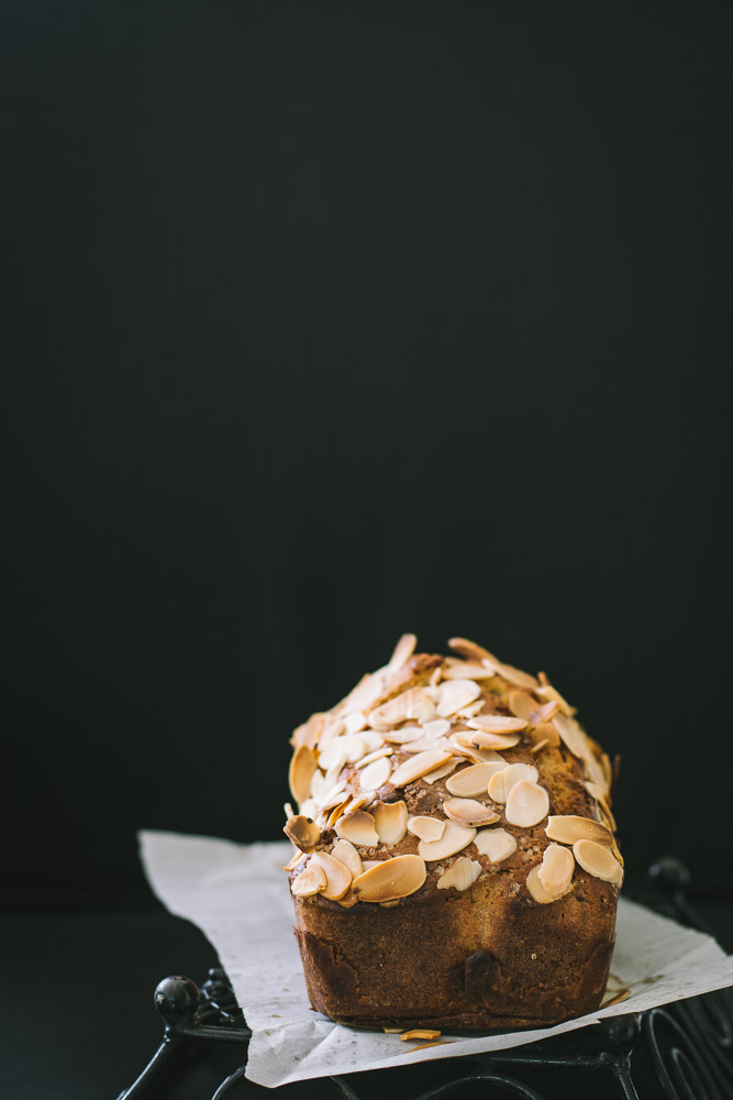
[[[475,664],[475,658],[467,660]],[[368,715],[385,701],[396,700],[411,688],[427,686],[435,693],[438,691],[436,675],[440,675],[436,670],[445,667],[443,662],[446,661],[453,670],[455,658],[413,654],[397,669],[388,667],[381,670],[381,682],[363,681],[352,693],[363,705],[359,713],[366,711]],[[492,661],[496,659],[492,658]],[[507,675],[515,672],[508,666],[502,666],[502,669]],[[518,678],[521,675],[517,672]],[[522,691],[530,691],[526,682]],[[503,674],[478,679],[475,683],[479,693],[471,704],[474,711],[480,707],[481,716],[512,714],[509,700],[511,692],[518,690],[515,684],[508,682]],[[365,698],[367,706],[364,705]],[[299,727],[293,735],[293,744],[306,744],[304,738],[310,737],[308,744],[316,757],[324,761],[331,759],[327,752],[334,752],[333,745],[329,750],[325,746],[333,737],[349,736],[348,730],[334,733],[336,727],[331,726],[331,737],[322,743],[320,738],[330,724],[343,722],[353,713],[352,702],[353,698],[349,702],[347,696],[331,712]],[[543,697],[537,695],[537,707],[543,702]],[[514,706],[519,708],[517,700]],[[377,734],[376,738],[366,738],[369,745],[365,748],[374,755],[373,744],[385,733],[389,734],[390,729],[410,732],[419,722],[430,729],[431,721],[436,718],[430,715],[427,706],[418,719],[403,716],[387,728],[381,723],[375,723],[374,728],[365,723],[367,734],[374,735],[375,730]],[[474,719],[467,714],[451,715],[446,721],[451,721],[453,734],[458,729],[470,732]],[[557,746],[545,745],[538,752],[533,751],[530,721],[526,729],[519,735],[518,744],[503,750],[500,760],[506,765],[523,763],[537,769],[536,785],[546,792],[549,815],[577,815],[601,821],[603,812],[598,798],[586,785],[589,768],[596,780],[599,774],[602,778],[600,749],[585,737],[571,717],[565,716],[565,721],[574,723],[571,729],[566,729],[567,737],[558,738]],[[318,735],[314,736],[315,726]],[[562,723],[558,728],[562,737]],[[570,751],[566,740],[573,741],[580,756]],[[382,746],[392,750],[391,756],[382,758],[389,763],[390,776],[398,774],[397,768],[411,759],[410,754],[397,743],[385,740]],[[377,749],[377,754],[379,751],[381,749]],[[589,763],[586,752],[592,755],[592,762]],[[320,757],[320,754],[323,756]],[[366,754],[363,759],[369,760],[370,757]],[[460,758],[457,769],[463,770],[471,762]],[[498,767],[503,765],[500,762]],[[330,778],[335,774],[338,784],[344,785],[343,794],[337,794],[336,799],[363,794],[359,787],[363,768],[359,759],[344,762],[338,768],[336,759]],[[378,771],[373,773],[379,774]],[[452,774],[455,776],[456,771]],[[388,778],[376,792],[377,802],[367,804],[362,812],[373,812],[378,802],[403,801],[409,817],[429,816],[445,821],[443,804],[452,799],[449,781],[449,774],[432,783],[420,778],[396,789]],[[322,780],[321,793],[324,784],[325,780]],[[596,793],[600,796],[600,791]],[[323,798],[327,801],[327,794]],[[603,788],[603,799],[610,805],[607,788]],[[517,843],[513,854],[500,862],[492,862],[488,855],[482,854],[482,848],[487,846],[478,847],[476,840],[479,836],[475,835],[475,839],[460,850],[429,861],[424,881],[422,877],[418,880],[423,884],[411,888],[414,892],[389,900],[386,904],[359,901],[358,878],[354,879],[353,890],[342,895],[341,900],[330,901],[321,893],[293,895],[296,933],[313,1008],[333,1020],[360,1026],[430,1024],[470,1030],[546,1025],[598,1008],[613,949],[619,887],[576,866],[567,893],[547,904],[535,901],[526,879],[531,870],[542,871],[543,853],[552,843],[545,833],[547,816],[531,826],[519,826],[508,820],[510,811],[507,805],[493,802],[488,793],[481,796],[481,801],[499,815],[500,820],[493,827],[501,828]],[[338,834],[333,825],[327,825],[329,820],[334,824],[341,820],[336,817],[334,821],[333,809],[326,806],[322,810],[315,800],[308,800],[300,810],[304,814],[312,812],[321,827],[316,850],[334,851],[337,856],[334,843]],[[343,811],[335,811],[342,816],[348,812],[348,803]],[[343,824],[340,831],[342,828]],[[609,839],[612,842],[610,834]],[[417,857],[420,851],[427,850],[411,832],[406,832],[397,843],[380,843],[371,847],[356,845],[356,853],[363,861],[392,859],[402,855]],[[615,847],[612,850],[618,855]],[[302,872],[309,859],[307,855],[290,870],[291,881]],[[438,884],[441,877],[458,859],[470,860],[473,870],[466,881],[471,884],[463,890],[442,888]],[[454,872],[453,879],[446,881],[455,879]],[[538,895],[545,900],[549,897],[542,888]],[[391,899],[392,895],[382,897]]]

